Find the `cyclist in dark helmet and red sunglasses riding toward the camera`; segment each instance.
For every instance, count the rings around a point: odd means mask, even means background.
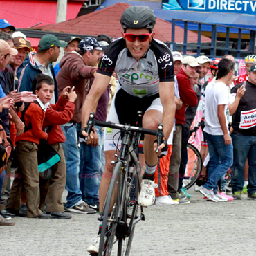
[[[148,7],[127,8],[122,14],[120,23],[124,30],[122,37],[112,42],[102,55],[95,80],[84,101],[82,127],[86,126],[89,113],[95,111],[100,95],[107,89],[111,75],[116,71],[118,86],[107,119],[115,123],[136,125],[136,112],[143,111],[144,128],[157,129],[158,123],[163,122],[165,138],[158,149],[161,149],[160,152],[162,151],[163,154],[165,148],[167,153],[166,138],[169,137],[174,125],[176,109],[172,53],[163,42],[153,38],[156,17]],[[85,131],[82,131],[82,134],[88,136]],[[113,171],[111,161],[115,159],[114,153],[118,145],[117,141],[113,143],[115,134],[115,131],[105,129],[106,164],[100,183],[100,211]],[[90,140],[95,143],[96,137],[97,135],[91,132],[88,137],[89,143]],[[145,135],[143,143],[146,170],[138,198],[138,203],[143,206],[152,205],[155,199],[154,172],[157,155],[154,140],[154,136]],[[87,250],[90,253],[98,253],[98,242],[99,236]]]

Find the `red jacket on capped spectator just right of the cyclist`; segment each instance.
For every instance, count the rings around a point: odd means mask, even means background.
[[[188,76],[181,68],[181,71],[176,75],[179,85],[179,95],[183,102],[181,109],[176,110],[176,124],[184,125],[185,123],[185,107],[196,107],[198,102],[196,92],[192,89]]]

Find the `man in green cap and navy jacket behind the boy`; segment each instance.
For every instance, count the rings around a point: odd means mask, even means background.
[[[60,55],[60,47],[66,47],[68,44],[64,41],[60,41],[55,35],[46,34],[39,42],[37,53],[29,53],[28,57],[24,61],[24,68],[21,73],[17,74],[19,78],[19,91],[33,91],[32,81],[35,75],[43,73],[49,75],[54,81],[55,93],[50,103],[55,104],[58,99],[57,94],[57,82],[55,79],[55,73],[53,70],[53,62],[56,62]]]

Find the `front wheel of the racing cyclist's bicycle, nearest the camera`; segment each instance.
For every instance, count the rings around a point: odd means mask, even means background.
[[[112,179],[109,183],[109,190],[107,191],[106,200],[102,208],[102,230],[100,235],[99,256],[109,256],[113,248],[113,243],[116,237],[116,228],[118,226],[118,210],[120,206],[120,193],[116,193],[116,185],[118,191],[122,188],[122,163],[118,162],[113,167]],[[113,201],[116,203],[113,204]],[[113,205],[113,209],[111,208]],[[109,212],[111,216],[109,217]],[[110,222],[111,221],[111,222]]]

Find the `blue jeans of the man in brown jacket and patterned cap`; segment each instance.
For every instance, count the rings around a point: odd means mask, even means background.
[[[66,141],[62,143],[66,159],[66,190],[68,190],[66,207],[71,208],[82,203],[82,192],[79,182],[80,154],[75,124],[68,122],[66,125],[62,125],[62,131],[66,137]]]

